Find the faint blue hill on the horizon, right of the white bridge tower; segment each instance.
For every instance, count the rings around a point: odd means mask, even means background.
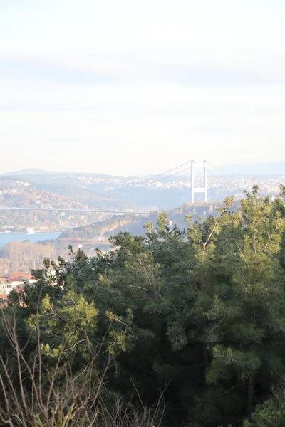
[[[224,174],[242,175],[284,175],[285,162],[275,163],[241,163],[219,167]],[[218,172],[217,172],[218,173]]]

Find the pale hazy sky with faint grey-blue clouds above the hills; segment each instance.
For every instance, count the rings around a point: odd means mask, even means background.
[[[0,0],[0,172],[285,160],[284,0]]]

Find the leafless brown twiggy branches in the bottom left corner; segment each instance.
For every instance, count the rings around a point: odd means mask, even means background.
[[[162,425],[162,397],[152,408],[135,408],[114,396],[105,384],[110,359],[104,369],[95,367],[102,345],[90,361],[74,374],[68,367],[64,342],[52,367],[41,350],[37,328],[36,351],[26,354],[31,336],[20,345],[16,318],[10,321],[1,312],[4,332],[16,359],[0,356],[0,422],[10,427],[159,427]],[[135,385],[134,385],[135,387]],[[136,389],[135,389],[136,390]],[[139,395],[138,395],[139,396]],[[141,402],[142,403],[142,402]]]

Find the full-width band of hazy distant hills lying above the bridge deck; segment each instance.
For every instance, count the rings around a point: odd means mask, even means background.
[[[213,174],[211,172],[209,170],[208,199],[214,201],[221,201],[232,194],[236,199],[240,199],[244,189],[251,188],[253,176],[257,176],[262,194],[267,192],[276,195],[279,192],[278,185],[269,182],[269,178],[275,178],[279,183],[285,184],[285,162],[224,166],[218,171],[213,169]],[[244,180],[234,182],[233,179],[229,182],[227,174],[232,178],[243,177]],[[202,180],[198,175],[199,169],[197,169],[196,183],[199,182],[200,185]],[[262,182],[263,179],[264,182]],[[268,182],[265,182],[266,180]],[[25,186],[26,184],[30,186]],[[8,190],[7,187],[9,187]],[[61,198],[67,198],[73,204],[78,204],[78,209],[83,205],[89,209],[115,209],[116,211],[169,210],[186,204],[191,198],[190,170],[188,174],[174,176],[170,174],[160,176],[159,179],[150,179],[145,176],[124,177],[83,172],[51,172],[42,169],[24,169],[0,175],[0,199],[5,201],[4,195],[7,191],[14,196],[14,205],[9,206],[21,206],[20,193],[21,201],[24,202],[25,194],[30,198],[28,190],[31,187],[36,191],[48,191],[58,196],[59,201]],[[203,194],[195,194],[195,201],[202,200]],[[48,201],[46,202],[48,204]],[[40,197],[36,203],[41,204]],[[49,205],[53,206],[53,201]],[[59,204],[56,206],[61,207]],[[68,206],[63,204],[62,207]]]

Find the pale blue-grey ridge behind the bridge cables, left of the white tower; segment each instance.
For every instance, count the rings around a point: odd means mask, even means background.
[[[50,172],[41,169],[26,169],[0,175],[1,181],[23,181],[34,188],[51,191],[59,196],[66,196],[89,208],[113,209],[171,209],[190,199],[190,190],[184,188],[148,188],[137,186],[136,181],[144,181],[143,176],[125,178],[104,174],[87,174],[80,172]],[[173,176],[165,179],[172,182]],[[186,181],[187,176],[180,176]],[[188,176],[189,179],[189,176]],[[120,189],[123,188],[121,192]],[[127,189],[127,191],[125,191]]]

